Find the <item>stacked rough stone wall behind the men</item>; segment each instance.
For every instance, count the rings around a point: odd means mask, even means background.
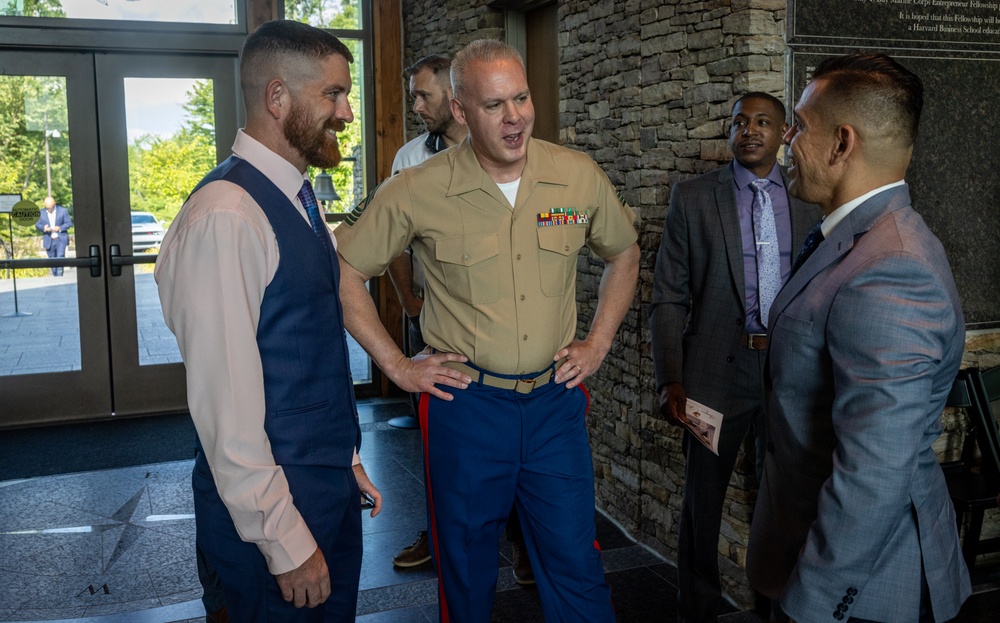
[[[504,36],[502,13],[481,0],[440,5],[404,1],[404,64]],[[558,8],[561,141],[590,154],[635,208],[642,248],[635,302],[600,374],[588,381],[598,505],[675,560],[684,459],[679,429],[654,416],[645,322],[653,265],[671,185],[731,157],[724,132],[733,102],[750,91],[784,99],[786,2],[560,0]],[[407,135],[422,131],[411,114]],[[602,269],[580,258],[581,333],[593,318]],[[960,416],[946,423],[961,434]],[[949,438],[940,443],[942,452],[954,446]],[[753,601],[743,567],[755,486],[753,457],[741,456],[719,554],[724,590],[742,606]]]

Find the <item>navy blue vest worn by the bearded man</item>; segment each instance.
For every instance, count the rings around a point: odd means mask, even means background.
[[[350,467],[361,429],[333,244],[317,237],[274,183],[245,160],[230,157],[195,190],[215,180],[245,189],[278,242],[278,270],[264,290],[257,325],[264,430],[275,463]]]

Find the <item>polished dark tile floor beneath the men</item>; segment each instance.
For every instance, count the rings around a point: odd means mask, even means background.
[[[366,469],[386,502],[364,522],[359,623],[437,621],[430,566],[400,571],[392,555],[424,528],[421,449],[415,430],[388,422],[409,403],[359,405]],[[204,621],[194,562],[191,461],[0,482],[0,621]],[[676,570],[596,514],[618,620],[675,620]],[[542,621],[537,592],[518,586],[501,541],[494,622]],[[995,622],[1000,590],[978,587],[958,619]],[[723,605],[723,623],[758,623]]]

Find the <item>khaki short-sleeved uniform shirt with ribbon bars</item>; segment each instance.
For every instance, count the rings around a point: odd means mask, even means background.
[[[637,239],[633,221],[593,160],[537,139],[511,210],[466,138],[386,180],[336,237],[366,275],[412,246],[427,273],[424,340],[486,370],[529,374],[575,336],[580,248],[621,253]]]

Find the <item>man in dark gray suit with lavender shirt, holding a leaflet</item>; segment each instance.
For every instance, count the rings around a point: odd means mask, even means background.
[[[719,456],[690,433],[684,436],[679,621],[716,620],[726,488],[748,431],[756,429],[756,439],[763,439],[767,324],[762,311],[791,273],[794,255],[820,214],[785,192],[785,173],[777,164],[787,129],[784,105],[766,93],[749,93],[733,106],[731,121],[735,160],[675,184],[670,193],[650,305],[661,414],[679,424],[691,396],[725,416]],[[755,200],[773,214],[768,239],[755,237]],[[770,267],[758,258],[757,249],[765,247],[777,247]],[[770,295],[768,286],[760,287],[769,270]]]

